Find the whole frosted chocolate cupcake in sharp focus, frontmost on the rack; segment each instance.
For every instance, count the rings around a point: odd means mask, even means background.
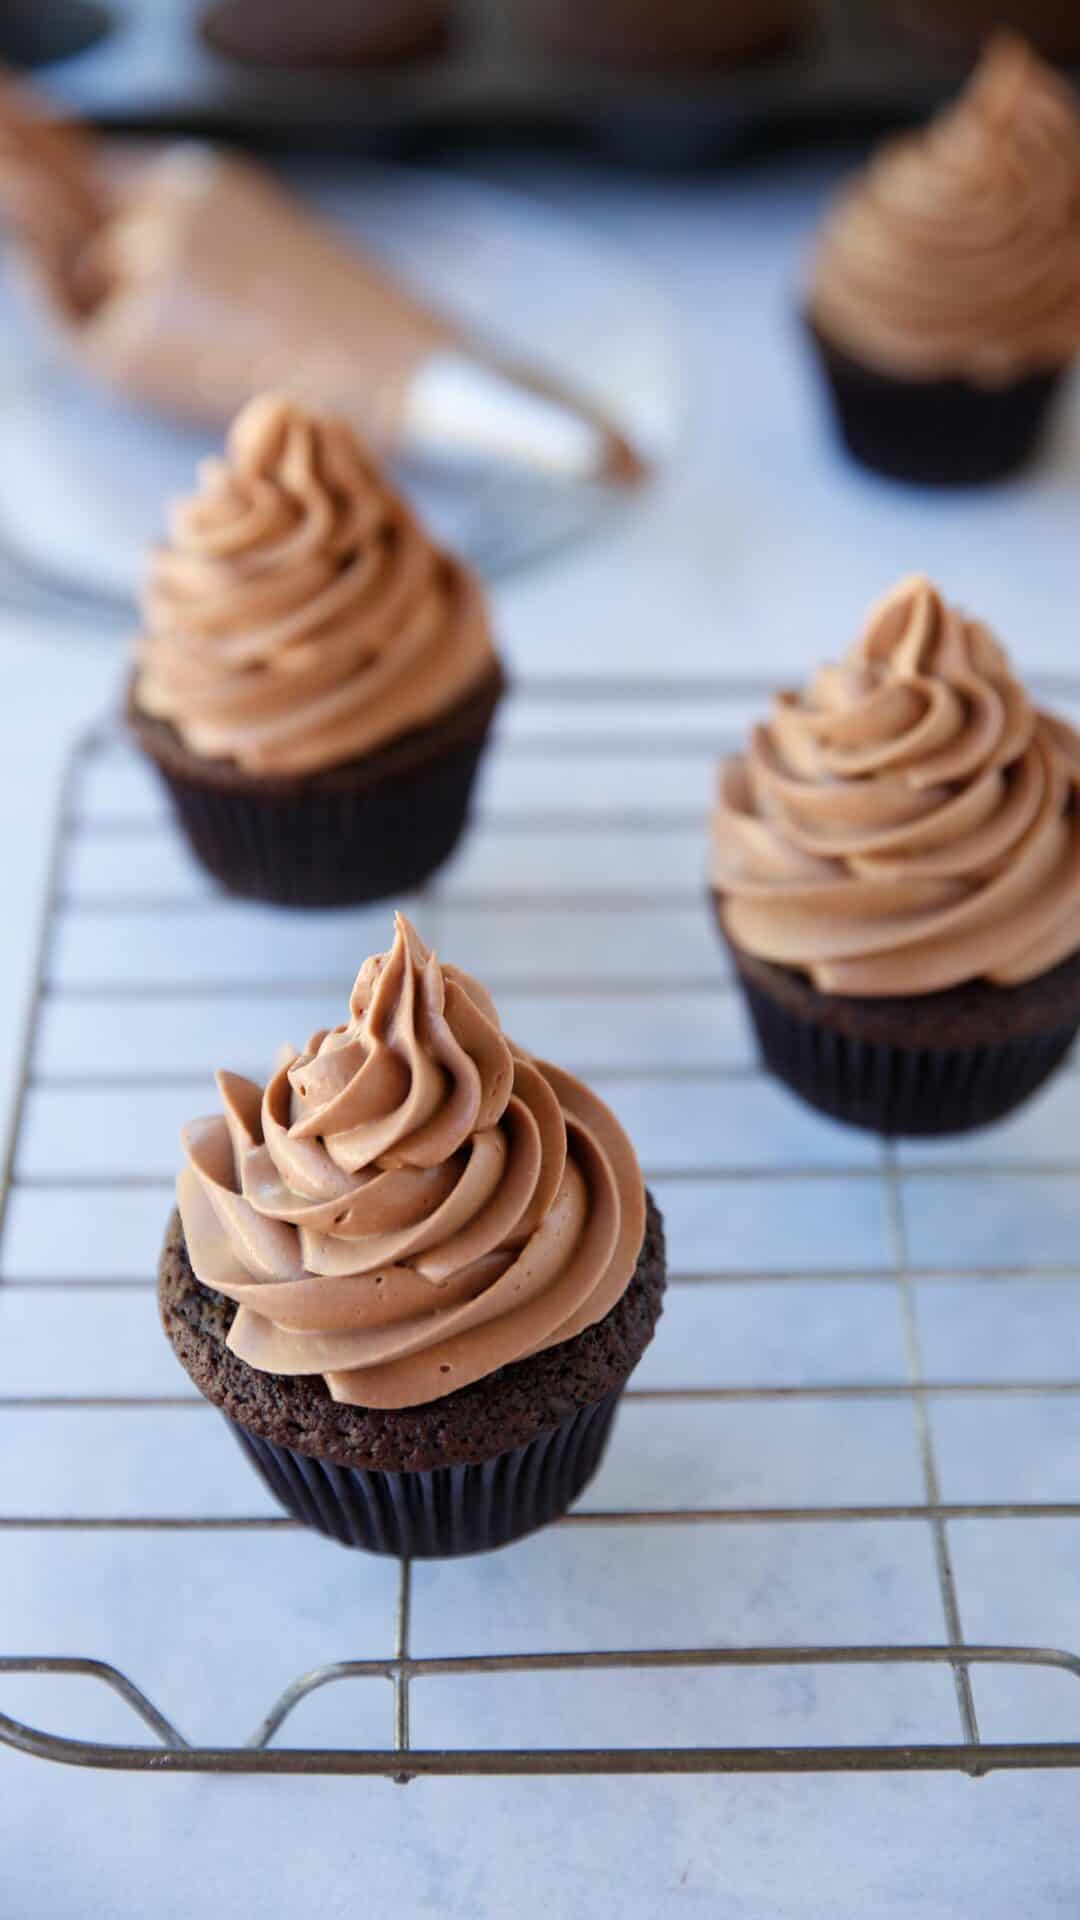
[[[665,1284],[634,1150],[398,916],[344,1025],[183,1133],[165,1332],[294,1519],[448,1555],[557,1519]]]

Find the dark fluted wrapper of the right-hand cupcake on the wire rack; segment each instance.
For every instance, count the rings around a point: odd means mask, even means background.
[[[1065,1060],[1076,1021],[986,1046],[896,1046],[803,1020],[742,975],[765,1066],[809,1106],[884,1135],[967,1133],[1020,1106]]]

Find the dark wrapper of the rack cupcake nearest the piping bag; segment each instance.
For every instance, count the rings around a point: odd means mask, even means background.
[[[484,735],[369,785],[244,791],[160,766],[192,851],[229,893],[359,906],[419,887],[457,845]]]

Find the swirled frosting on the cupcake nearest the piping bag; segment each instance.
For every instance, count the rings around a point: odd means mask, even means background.
[[[254,399],[144,593],[135,697],[252,774],[309,774],[448,712],[496,666],[480,588],[344,420]]]

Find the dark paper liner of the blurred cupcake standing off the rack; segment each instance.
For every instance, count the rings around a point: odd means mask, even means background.
[[[847,451],[892,480],[984,486],[1034,455],[1065,369],[1009,386],[901,380],[851,359],[811,324]]]

